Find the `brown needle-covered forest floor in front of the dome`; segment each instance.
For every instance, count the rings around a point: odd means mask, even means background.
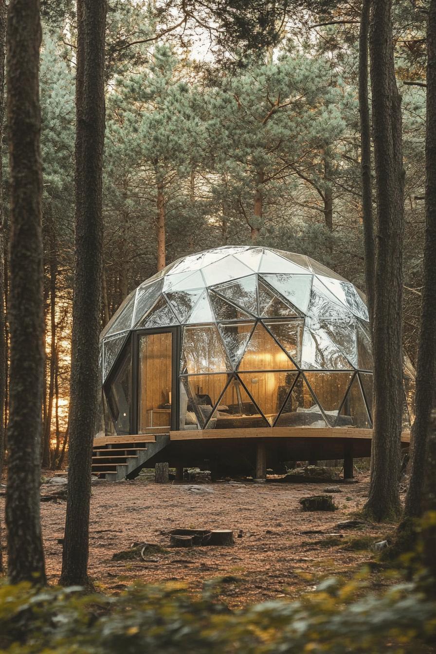
[[[384,540],[392,525],[338,527],[353,517],[367,498],[367,476],[357,483],[273,483],[225,481],[157,485],[133,481],[97,481],[92,486],[90,575],[97,589],[119,593],[132,581],[183,582],[192,592],[221,579],[220,595],[230,606],[274,598],[295,598],[324,576],[351,577],[375,559],[374,542]],[[305,512],[301,498],[327,487],[337,511]],[[46,490],[53,485],[43,485]],[[57,487],[59,489],[59,487]],[[0,498],[4,500],[4,498]],[[65,500],[42,502],[41,517],[49,583],[61,570]],[[169,548],[174,528],[231,529],[233,547]],[[241,537],[237,537],[241,534]],[[332,535],[333,534],[333,535]],[[164,551],[148,560],[112,560],[133,542],[158,543]],[[373,585],[385,581],[373,572]]]

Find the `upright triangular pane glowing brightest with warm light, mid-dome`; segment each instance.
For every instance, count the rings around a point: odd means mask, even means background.
[[[259,322],[248,341],[238,370],[290,370],[295,364]]]

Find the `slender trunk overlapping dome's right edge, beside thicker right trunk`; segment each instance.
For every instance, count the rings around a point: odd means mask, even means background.
[[[362,186],[363,250],[365,286],[371,331],[374,321],[375,254],[373,188],[371,181],[371,124],[368,102],[368,35],[371,0],[363,0],[359,33],[360,163]]]

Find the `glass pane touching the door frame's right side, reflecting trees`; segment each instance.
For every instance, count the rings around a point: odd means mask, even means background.
[[[184,327],[180,371],[182,374],[230,371],[231,364],[216,325]]]

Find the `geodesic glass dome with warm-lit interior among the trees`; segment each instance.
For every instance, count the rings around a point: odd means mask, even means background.
[[[307,256],[220,247],[178,259],[101,334],[107,434],[371,428],[365,297]],[[414,371],[405,356],[404,428]]]

